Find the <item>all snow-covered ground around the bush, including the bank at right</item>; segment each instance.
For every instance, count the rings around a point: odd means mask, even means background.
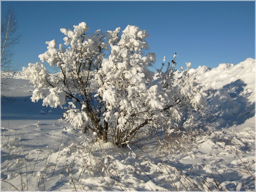
[[[255,60],[196,70],[211,88],[204,133],[167,148],[158,130],[125,149],[66,128],[62,109],[31,102],[35,88],[13,73],[12,101],[1,98],[1,191],[255,191]]]

